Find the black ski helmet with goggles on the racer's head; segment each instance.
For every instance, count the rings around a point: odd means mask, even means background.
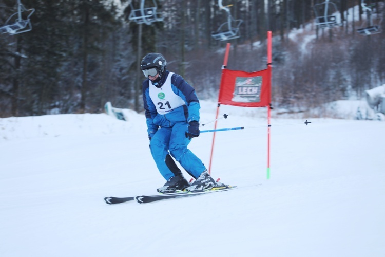
[[[166,59],[161,53],[151,52],[143,57],[140,67],[146,78],[159,74],[157,81],[154,81],[158,82],[166,72],[166,65]]]

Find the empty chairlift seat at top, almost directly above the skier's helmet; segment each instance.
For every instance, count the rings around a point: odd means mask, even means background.
[[[163,21],[162,14],[158,12],[156,0],[152,0],[152,6],[146,5],[145,2],[145,0],[141,0],[140,8],[134,9],[131,1],[131,12],[128,16],[128,20],[134,21],[138,24],[144,23],[146,25],[151,25],[153,22]]]

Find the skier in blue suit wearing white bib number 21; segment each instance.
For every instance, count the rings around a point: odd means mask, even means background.
[[[153,159],[167,180],[158,192],[212,189],[216,182],[202,161],[187,149],[191,138],[199,136],[200,104],[195,89],[180,75],[166,70],[160,53],[143,57],[141,69],[143,104]],[[196,180],[189,185],[171,156]]]

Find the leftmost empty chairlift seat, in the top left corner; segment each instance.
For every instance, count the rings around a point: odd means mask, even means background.
[[[20,0],[17,0],[17,12],[12,14],[4,25],[0,26],[0,33],[15,35],[32,30],[30,16],[34,11],[33,8],[26,9]],[[27,17],[24,18],[23,13],[28,13]]]

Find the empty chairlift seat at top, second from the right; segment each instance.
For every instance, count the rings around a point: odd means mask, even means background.
[[[338,12],[338,9],[333,2],[326,0],[325,2],[315,4],[313,10],[316,16],[315,23],[320,28],[332,28],[341,25],[341,23],[337,21],[336,12]]]

